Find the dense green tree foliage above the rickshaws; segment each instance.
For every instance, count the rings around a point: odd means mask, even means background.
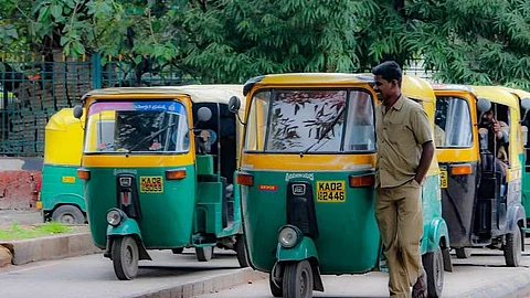
[[[0,53],[121,55],[203,82],[363,72],[423,58],[437,79],[530,89],[526,0],[0,0]]]

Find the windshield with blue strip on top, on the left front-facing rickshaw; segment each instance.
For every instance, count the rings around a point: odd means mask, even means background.
[[[85,153],[189,150],[186,108],[176,100],[95,102],[87,117]]]

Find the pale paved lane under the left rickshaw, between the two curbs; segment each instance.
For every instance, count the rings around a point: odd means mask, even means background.
[[[140,262],[138,277],[118,280],[113,264],[103,255],[40,262],[0,269],[0,297],[128,297],[200,280],[239,267],[235,254],[219,251],[208,263],[195,259],[193,249],[182,255],[170,251],[149,252],[152,262]]]

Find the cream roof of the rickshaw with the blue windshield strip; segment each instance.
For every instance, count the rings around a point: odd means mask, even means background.
[[[149,94],[161,96],[189,95],[193,103],[227,104],[232,96],[244,100],[243,85],[184,85],[160,87],[116,87],[95,89],[83,95],[83,99],[93,96]]]

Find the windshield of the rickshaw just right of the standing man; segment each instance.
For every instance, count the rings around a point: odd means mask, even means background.
[[[435,125],[437,148],[469,148],[473,146],[471,114],[466,99],[438,96]]]

